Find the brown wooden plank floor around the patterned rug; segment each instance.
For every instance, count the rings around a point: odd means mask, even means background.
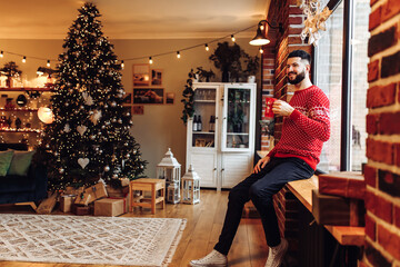
[[[208,254],[218,240],[227,210],[228,191],[201,190],[201,201],[197,205],[168,204],[166,209],[158,205],[156,215],[150,209],[126,214],[123,217],[186,218],[187,226],[174,253],[171,267],[189,266],[191,259]],[[0,206],[0,212],[34,212],[29,207]],[[60,214],[60,212],[53,212]],[[0,215],[1,216],[1,215]],[[229,266],[262,267],[267,260],[268,247],[260,219],[242,219],[233,245],[228,255]],[[38,264],[0,261],[0,267],[88,267],[94,265]],[[117,267],[114,265],[96,265]],[[122,266],[121,266],[122,267]]]

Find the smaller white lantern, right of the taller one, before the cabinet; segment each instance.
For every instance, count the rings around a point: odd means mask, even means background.
[[[200,177],[190,165],[188,171],[182,177],[182,202],[200,202]]]

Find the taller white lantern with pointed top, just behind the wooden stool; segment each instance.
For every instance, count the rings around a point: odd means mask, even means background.
[[[171,148],[168,148],[161,162],[157,165],[157,178],[166,179],[167,201],[177,204],[180,201],[181,165],[173,157]],[[172,194],[172,195],[170,195]]]

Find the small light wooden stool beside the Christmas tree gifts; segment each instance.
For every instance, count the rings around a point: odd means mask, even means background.
[[[133,191],[141,191],[141,196],[134,197]],[[156,197],[157,191],[161,191],[161,196]],[[151,191],[151,198],[144,198],[144,191]],[[130,181],[129,194],[131,197],[131,210],[133,207],[146,207],[151,208],[151,214],[156,214],[156,204],[161,202],[161,208],[166,205],[166,180],[164,179],[152,179],[141,178]]]

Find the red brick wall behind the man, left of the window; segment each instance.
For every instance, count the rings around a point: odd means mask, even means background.
[[[304,16],[302,14],[302,10],[297,7],[297,0],[272,0],[268,20],[282,22],[284,31],[282,34],[277,34],[278,39],[273,44],[269,44],[264,48],[264,51],[267,48],[269,48],[269,50],[264,53],[262,61],[264,71],[262,97],[263,99],[266,97],[274,97],[289,101],[293,95],[294,86],[288,85],[286,59],[288,55],[296,49],[303,49],[311,53],[311,47],[303,43],[299,36],[303,28],[302,22]],[[272,47],[272,49],[270,47]],[[276,118],[276,142],[280,138],[282,118]],[[298,205],[297,198],[286,188],[274,196],[274,207],[281,236],[289,240],[291,253],[296,253],[299,246],[297,238],[299,230],[297,221]]]

